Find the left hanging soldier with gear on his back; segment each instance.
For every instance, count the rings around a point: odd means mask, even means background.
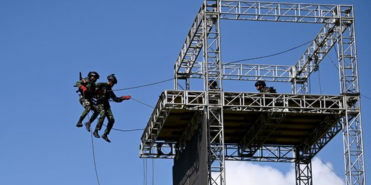
[[[95,71],[90,71],[88,77],[81,79],[80,81],[76,82],[76,86],[78,86],[79,101],[80,104],[85,108],[82,112],[76,127],[82,127],[82,121],[85,119],[87,114],[90,110],[93,110],[93,116],[91,116],[90,121],[93,121],[98,116],[98,106],[93,103],[92,99],[95,94],[95,82],[99,79],[99,74]]]

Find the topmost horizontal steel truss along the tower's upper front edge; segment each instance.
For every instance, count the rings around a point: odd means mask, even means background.
[[[295,23],[325,23],[339,18],[352,8],[350,5],[323,5],[304,3],[272,3],[259,1],[221,1],[221,18],[248,21],[281,21]]]

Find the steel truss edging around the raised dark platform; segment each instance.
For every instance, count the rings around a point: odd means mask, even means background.
[[[206,105],[207,95],[204,91],[190,90],[166,90],[161,94],[153,116],[142,136],[140,147],[141,157],[146,158],[175,158],[176,150],[181,151],[189,140],[192,130],[199,124]],[[284,103],[282,103],[284,102]],[[340,130],[340,121],[333,125],[334,121],[339,120],[345,114],[344,96],[335,95],[297,95],[297,94],[271,94],[265,93],[234,93],[222,92],[220,104],[224,110],[236,110],[247,112],[303,112],[319,113],[328,115],[323,121],[322,127],[318,127],[306,139],[306,145],[301,146],[300,156],[303,158],[313,158],[326,143],[330,141]],[[219,103],[219,102],[214,102]],[[279,106],[278,106],[279,105]],[[164,125],[164,119],[170,114],[171,110],[194,110],[196,114],[191,123],[186,128],[183,136],[177,143],[164,143],[157,141],[159,130]],[[330,128],[330,132],[324,131]],[[187,134],[189,133],[189,134]],[[322,137],[321,137],[322,136]],[[188,137],[188,138],[187,138]],[[320,139],[318,139],[320,138]],[[314,144],[313,144],[314,143]],[[177,144],[177,145],[176,145]],[[278,161],[293,162],[295,157],[289,156],[295,150],[293,146],[272,146],[264,145],[258,149],[254,156],[247,156],[243,153],[240,145],[225,143],[227,160],[249,160],[249,161]]]

